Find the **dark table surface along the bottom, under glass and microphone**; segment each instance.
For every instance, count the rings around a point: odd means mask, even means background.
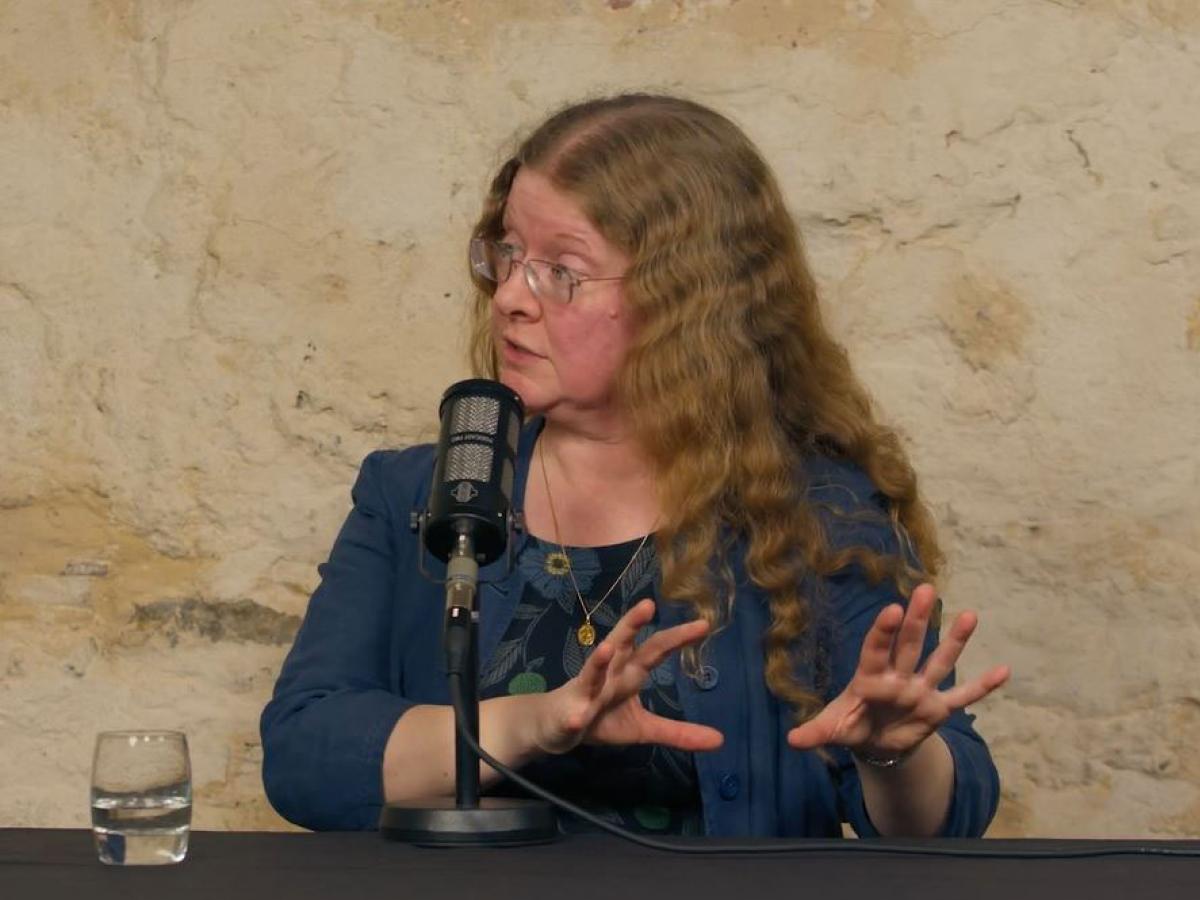
[[[1200,899],[1200,841],[842,841],[811,851],[679,856],[607,835],[520,848],[425,850],[377,834],[193,832],[179,865],[107,866],[91,833],[0,829],[0,898],[1187,898]],[[709,844],[707,846],[720,846]],[[901,856],[896,850],[1014,857]],[[1112,856],[1064,858],[1104,852]],[[1164,853],[1190,853],[1164,856]]]

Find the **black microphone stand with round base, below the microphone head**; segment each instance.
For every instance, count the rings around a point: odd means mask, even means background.
[[[553,808],[542,800],[479,796],[479,756],[463,733],[479,743],[479,563],[470,527],[458,528],[446,564],[444,630],[446,674],[455,703],[455,796],[389,803],[379,816],[388,840],[421,846],[518,846],[558,838]]]

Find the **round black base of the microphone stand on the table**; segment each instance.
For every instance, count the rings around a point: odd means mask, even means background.
[[[541,800],[484,797],[478,806],[462,808],[452,797],[439,797],[413,804],[384,806],[379,833],[419,847],[516,847],[559,836],[554,809]]]

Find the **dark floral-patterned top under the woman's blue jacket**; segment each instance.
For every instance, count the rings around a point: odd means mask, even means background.
[[[608,635],[620,616],[638,600],[658,596],[658,559],[649,540],[622,576],[641,540],[607,547],[566,547],[530,535],[517,558],[521,601],[496,653],[480,672],[480,698],[535,694],[565,684],[580,673],[587,656]],[[590,610],[610,586],[607,599],[592,612],[596,640],[583,647],[576,630],[583,610],[571,584],[575,570]],[[641,643],[658,630],[654,622],[635,638]],[[668,719],[683,719],[674,674],[664,662],[647,679],[642,704]],[[703,834],[696,766],[690,752],[659,745],[578,746],[562,756],[530,762],[522,774],[538,785],[616,824],[658,834]],[[494,793],[520,793],[502,784]],[[586,829],[574,817],[564,830]]]

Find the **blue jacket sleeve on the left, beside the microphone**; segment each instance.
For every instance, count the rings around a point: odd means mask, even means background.
[[[385,456],[362,463],[354,508],[262,715],[266,796],[305,828],[376,827],[384,746],[414,706],[389,690],[396,564]]]

